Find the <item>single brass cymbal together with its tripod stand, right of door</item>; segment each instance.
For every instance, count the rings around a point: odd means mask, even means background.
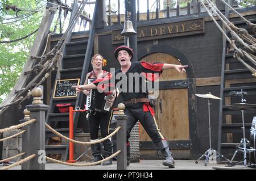
[[[217,158],[217,157],[222,157],[222,158],[225,158],[226,161],[230,162],[230,160],[226,157],[224,157],[224,155],[218,153],[218,151],[214,150],[212,148],[212,141],[211,141],[211,127],[210,127],[210,100],[209,99],[221,99],[221,98],[218,98],[217,96],[214,96],[212,95],[210,92],[209,94],[195,94],[196,96],[199,96],[200,98],[207,98],[208,99],[208,121],[209,121],[209,144],[210,144],[210,148],[208,150],[205,151],[204,154],[202,154],[199,159],[197,159],[197,161],[195,163],[198,163],[199,160],[203,157],[206,157],[205,158],[205,162],[204,162],[204,165],[206,166],[207,165],[207,162],[209,161],[209,159],[211,158],[213,160],[213,158]],[[216,155],[215,157],[214,154]]]

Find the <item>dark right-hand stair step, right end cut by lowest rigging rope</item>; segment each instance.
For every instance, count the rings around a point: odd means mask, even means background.
[[[252,73],[248,69],[225,70],[226,79],[253,78]]]

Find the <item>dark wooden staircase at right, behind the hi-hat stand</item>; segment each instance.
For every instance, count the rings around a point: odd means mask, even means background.
[[[256,19],[250,19],[255,23]],[[245,28],[250,35],[256,37],[253,31],[247,27],[245,21],[233,22],[238,28]],[[241,45],[236,43],[238,48]],[[251,72],[245,68],[236,58],[233,58],[233,52],[229,50],[229,43],[224,43],[225,55],[222,58],[221,72],[221,98],[220,116],[218,125],[218,152],[225,157],[231,159],[237,146],[240,144],[242,133],[242,113],[239,107],[234,108],[234,103],[241,103],[241,96],[230,95],[231,91],[245,91],[247,95],[243,96],[248,104],[256,104],[256,78]],[[249,61],[245,61],[255,69],[255,65]],[[255,110],[245,110],[245,136],[250,141],[250,128],[253,116],[256,115]],[[242,153],[242,152],[241,152]],[[242,154],[238,152],[235,160],[240,161]],[[221,161],[221,160],[219,160]]]

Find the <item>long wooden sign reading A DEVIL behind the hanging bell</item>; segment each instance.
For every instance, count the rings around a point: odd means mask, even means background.
[[[121,32],[122,30],[112,31],[113,44],[124,43],[124,36],[121,36]],[[138,41],[194,35],[198,33],[204,33],[203,18],[137,28]]]

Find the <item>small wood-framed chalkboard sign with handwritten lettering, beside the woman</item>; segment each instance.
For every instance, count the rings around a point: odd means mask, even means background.
[[[56,98],[75,98],[77,96],[76,90],[72,86],[79,85],[80,79],[64,79],[55,82],[55,89],[53,99]]]

